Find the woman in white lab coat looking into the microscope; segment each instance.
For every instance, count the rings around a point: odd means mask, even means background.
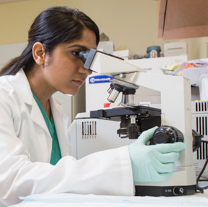
[[[165,154],[167,163],[158,158],[157,169],[139,168],[145,156],[157,160],[151,153],[159,149],[144,145],[155,128],[130,146],[78,161],[67,156],[67,119],[53,94],[78,92],[91,73],[83,68],[79,52],[96,48],[98,42],[98,27],[84,13],[49,8],[32,24],[20,57],[2,69],[0,199],[5,205],[20,202],[19,196],[40,193],[134,195],[133,181],[163,181],[173,172],[182,143],[171,145],[167,154],[163,147],[160,156]]]

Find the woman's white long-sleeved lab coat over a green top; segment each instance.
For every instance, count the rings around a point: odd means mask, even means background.
[[[23,70],[0,77],[0,199],[40,193],[133,195],[128,147],[107,150],[81,160],[67,156],[67,119],[60,102],[50,104],[63,158],[49,164],[52,139]],[[1,205],[1,204],[0,204]]]

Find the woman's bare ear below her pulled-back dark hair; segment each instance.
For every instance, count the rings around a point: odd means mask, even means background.
[[[45,63],[45,48],[42,43],[36,42],[33,45],[32,54],[38,65],[43,65]]]

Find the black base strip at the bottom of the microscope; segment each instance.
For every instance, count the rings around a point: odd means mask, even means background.
[[[193,195],[196,185],[188,186],[136,186],[136,196],[181,196]]]

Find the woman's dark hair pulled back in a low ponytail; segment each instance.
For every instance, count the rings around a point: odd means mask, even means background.
[[[46,9],[31,25],[25,50],[2,68],[0,76],[15,75],[21,68],[25,72],[31,70],[35,64],[32,55],[35,42],[41,42],[45,51],[50,54],[58,44],[80,39],[85,28],[95,33],[98,44],[99,29],[86,14],[77,9],[61,6]]]

